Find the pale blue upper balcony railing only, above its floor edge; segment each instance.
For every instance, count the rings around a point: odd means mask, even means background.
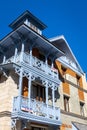
[[[17,54],[15,57],[12,56],[11,58],[7,59],[5,63],[19,63],[20,64],[20,58],[21,53]],[[34,56],[30,56],[29,53],[23,53],[22,62],[28,64],[28,66],[32,66],[34,68],[37,68],[38,70],[46,73],[47,75],[52,76],[55,79],[58,79],[58,70],[55,68],[52,68],[48,64],[45,64],[45,62],[39,60],[38,58]]]

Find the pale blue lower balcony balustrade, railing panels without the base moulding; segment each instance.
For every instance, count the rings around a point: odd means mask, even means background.
[[[19,103],[21,102],[21,103]],[[19,104],[21,104],[19,106]],[[35,99],[28,99],[25,97],[14,97],[13,99],[13,111],[15,112],[25,112],[34,117],[42,117],[43,119],[50,119],[55,121],[60,121],[60,108],[47,106],[44,102],[37,101]],[[29,117],[28,115],[28,117]]]

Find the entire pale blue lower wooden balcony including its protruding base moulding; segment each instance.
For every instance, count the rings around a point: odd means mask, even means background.
[[[20,105],[19,105],[20,104]],[[60,108],[25,97],[14,97],[12,118],[22,118],[44,124],[60,125]]]

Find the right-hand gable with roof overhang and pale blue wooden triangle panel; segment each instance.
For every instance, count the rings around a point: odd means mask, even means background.
[[[59,57],[57,59],[58,61],[60,61],[62,64],[69,67],[70,69],[72,69],[79,75],[84,73],[83,70],[81,69],[76,57],[74,56],[69,44],[65,40],[64,36],[51,38],[50,41],[51,41],[52,45],[54,45],[56,48],[63,51],[65,54],[65,55]]]

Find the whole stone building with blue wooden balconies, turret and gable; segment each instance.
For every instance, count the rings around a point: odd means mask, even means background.
[[[0,130],[87,129],[87,85],[64,36],[29,11],[0,41]]]

